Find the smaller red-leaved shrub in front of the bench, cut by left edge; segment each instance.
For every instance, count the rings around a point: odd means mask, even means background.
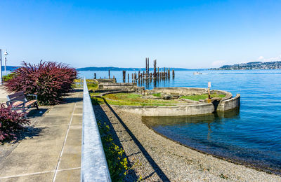
[[[29,124],[29,120],[23,117],[23,113],[11,110],[11,106],[0,106],[0,141],[5,139],[16,139],[16,132],[22,129],[23,125]]]

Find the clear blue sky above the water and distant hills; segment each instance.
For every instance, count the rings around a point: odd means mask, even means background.
[[[281,60],[281,1],[0,1],[0,48],[22,61],[205,69]]]

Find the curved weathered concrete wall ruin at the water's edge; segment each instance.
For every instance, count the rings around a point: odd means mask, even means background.
[[[145,90],[144,87],[138,87],[136,83],[99,83],[99,90],[124,92],[136,92],[142,95],[151,95],[160,93],[164,95],[163,99],[178,99],[181,96],[208,94],[207,88],[195,87],[155,87],[152,90]],[[110,92],[108,92],[110,93]],[[211,98],[207,100],[192,101],[185,100],[185,104],[174,104],[174,106],[115,106],[129,113],[141,114],[141,116],[190,116],[214,113],[215,111],[228,111],[240,107],[240,94],[233,97],[233,94],[223,90],[211,90],[211,94],[224,94],[223,98]]]

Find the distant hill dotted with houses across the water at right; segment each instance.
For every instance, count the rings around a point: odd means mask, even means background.
[[[224,65],[214,70],[244,70],[244,69],[281,69],[281,62],[248,62],[242,64]]]

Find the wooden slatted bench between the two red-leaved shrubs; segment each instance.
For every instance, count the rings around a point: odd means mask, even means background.
[[[27,109],[30,109],[32,106],[35,106],[38,108],[37,103],[37,95],[36,94],[27,94],[27,97],[34,97],[33,100],[27,100],[25,97],[24,92],[16,92],[14,94],[9,94],[7,96],[8,101],[6,102],[7,106],[12,106],[12,110],[19,111],[21,110],[23,113],[25,113],[26,117],[26,111]]]

